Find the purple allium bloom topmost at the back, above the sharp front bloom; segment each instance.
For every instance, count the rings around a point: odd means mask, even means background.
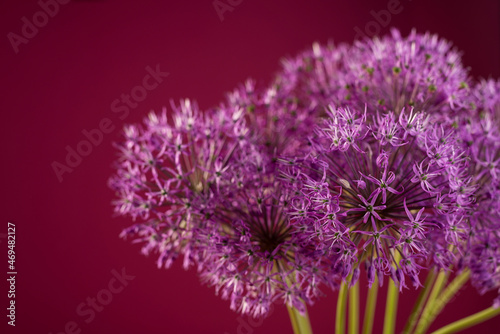
[[[464,107],[470,90],[461,55],[451,43],[415,31],[402,37],[393,29],[389,36],[352,47],[314,45],[284,64],[281,76],[300,81],[293,96],[323,107],[367,104],[369,113],[410,107],[451,113]]]

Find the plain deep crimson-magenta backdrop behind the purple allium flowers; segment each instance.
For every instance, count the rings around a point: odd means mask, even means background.
[[[247,77],[268,83],[282,56],[314,41],[351,42],[354,27],[364,29],[373,20],[370,10],[385,9],[387,3],[244,0],[221,22],[211,0],[73,1],[15,54],[5,36],[19,34],[21,17],[31,18],[40,7],[36,1],[3,0],[0,233],[6,233],[8,221],[17,224],[19,274],[14,329],[6,326],[7,286],[0,280],[0,331],[55,334],[76,321],[82,333],[238,333],[238,315],[213,289],[199,284],[194,270],[184,271],[180,263],[158,270],[137,245],[118,238],[131,223],[113,217],[113,193],[106,186],[118,129],[62,183],[51,163],[63,162],[65,146],[75,148],[84,139],[81,131],[96,128],[105,117],[121,128],[169,99],[189,97],[207,108]],[[438,33],[464,51],[475,76],[500,76],[498,1],[401,0],[401,5],[390,25],[404,34],[411,27]],[[141,84],[145,67],[156,64],[169,77],[119,120],[110,103]],[[6,243],[0,240],[4,277]],[[135,279],[86,324],[75,313],[77,305],[106,288],[110,271],[122,267]],[[399,330],[414,298],[405,291],[400,299]],[[379,300],[384,299],[381,291]],[[480,298],[467,288],[432,328],[479,311],[491,300],[491,294]],[[309,309],[315,333],[333,332],[335,302],[336,294],[327,292]],[[383,302],[377,317],[375,332],[380,332]],[[475,331],[500,332],[500,318],[468,332]],[[291,333],[286,309],[277,305],[261,326],[246,332]]]

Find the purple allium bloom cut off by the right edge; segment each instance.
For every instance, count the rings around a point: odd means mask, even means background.
[[[472,284],[484,293],[500,289],[500,84],[482,81],[474,89],[475,110],[454,118],[462,144],[471,152],[470,174],[478,187],[471,208],[471,224],[463,266]],[[500,292],[500,290],[499,290]],[[495,300],[500,306],[500,297]]]

